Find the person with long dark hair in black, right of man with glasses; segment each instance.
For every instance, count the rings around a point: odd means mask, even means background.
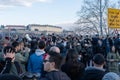
[[[68,50],[65,63],[61,67],[71,80],[81,80],[85,70],[85,65],[79,61],[78,57],[75,49]]]

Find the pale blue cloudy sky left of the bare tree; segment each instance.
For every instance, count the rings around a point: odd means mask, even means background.
[[[82,0],[0,0],[0,24],[74,23]]]

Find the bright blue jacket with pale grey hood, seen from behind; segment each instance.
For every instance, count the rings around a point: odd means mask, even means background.
[[[31,73],[42,73],[43,71],[43,54],[45,51],[37,49],[34,54],[32,54],[28,61],[28,72]]]

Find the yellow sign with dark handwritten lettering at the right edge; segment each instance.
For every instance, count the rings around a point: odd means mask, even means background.
[[[120,10],[108,8],[108,27],[120,28]]]

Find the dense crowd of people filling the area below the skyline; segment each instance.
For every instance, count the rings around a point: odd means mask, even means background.
[[[0,80],[120,80],[120,35],[0,40]]]

